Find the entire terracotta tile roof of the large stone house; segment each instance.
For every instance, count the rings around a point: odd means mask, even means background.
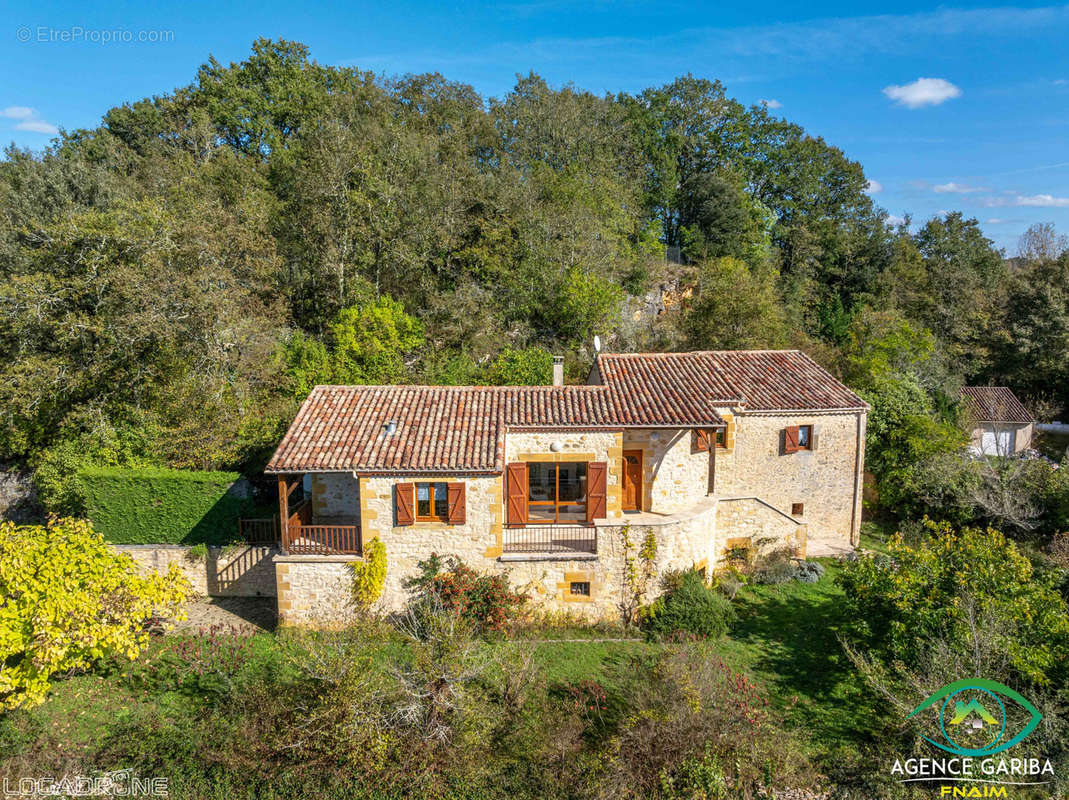
[[[714,428],[717,405],[743,400],[750,410],[866,407],[796,351],[603,354],[594,376],[586,386],[316,386],[266,471],[497,473],[509,428]]]

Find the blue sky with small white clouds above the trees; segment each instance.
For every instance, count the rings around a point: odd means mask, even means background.
[[[105,0],[3,9],[0,140],[24,147],[187,83],[210,53],[241,60],[257,36],[285,37],[321,63],[439,71],[486,95],[531,70],[599,93],[688,72],[718,78],[732,96],[768,101],[859,160],[893,215],[920,221],[961,210],[1008,255],[1032,222],[1069,233],[1069,5]]]

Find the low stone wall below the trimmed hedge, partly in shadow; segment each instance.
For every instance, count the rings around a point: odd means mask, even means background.
[[[191,555],[182,544],[112,544],[134,559],[140,574],[164,573],[176,564],[193,591],[210,597],[275,597],[274,548],[246,544],[208,548],[207,557]]]

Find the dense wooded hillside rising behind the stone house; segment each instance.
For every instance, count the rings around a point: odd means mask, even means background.
[[[49,510],[91,464],[254,472],[315,383],[579,380],[594,334],[805,350],[873,404],[888,506],[943,491],[963,382],[1069,404],[1050,226],[1008,259],[959,213],[893,225],[862,165],[715,80],[484,98],[261,40],[5,155],[0,460]]]

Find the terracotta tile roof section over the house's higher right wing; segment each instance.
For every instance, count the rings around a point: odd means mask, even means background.
[[[628,399],[672,406],[692,402],[743,405],[746,411],[868,407],[799,350],[603,353],[591,371],[593,380],[598,375]]]

